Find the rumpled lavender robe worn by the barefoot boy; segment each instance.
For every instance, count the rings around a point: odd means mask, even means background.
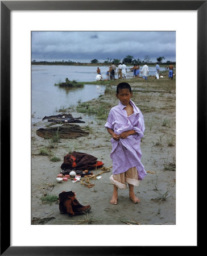
[[[121,174],[131,167],[138,170],[138,179],[143,180],[146,171],[141,163],[142,152],[140,150],[140,141],[145,130],[144,118],[142,112],[130,100],[134,113],[127,117],[124,109],[126,106],[119,101],[118,106],[111,108],[109,117],[105,124],[106,128],[114,130],[114,133],[121,134],[123,131],[135,130],[136,134],[129,135],[126,139],[115,141],[111,138],[112,151],[111,159],[113,160],[113,174]]]

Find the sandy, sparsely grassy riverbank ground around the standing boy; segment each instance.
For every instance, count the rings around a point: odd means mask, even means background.
[[[112,106],[118,104],[115,98],[115,85],[118,82],[118,80],[114,81],[114,86],[110,88],[109,93],[87,102],[87,105],[92,109],[103,106],[108,113]],[[86,152],[96,156],[105,167],[112,166],[110,135],[104,127],[106,119],[98,119],[96,115],[89,117],[86,113],[78,113],[73,107],[64,113],[71,113],[73,117],[82,117],[85,123],[78,123],[78,125],[83,130],[89,131],[86,137],[60,139],[59,143],[52,145],[49,140],[36,135],[39,127],[48,125],[47,121],[40,121],[32,126],[32,219],[53,217],[48,222],[44,222],[48,225],[176,224],[175,77],[172,81],[169,81],[165,75],[160,80],[148,77],[146,82],[141,78],[130,79],[127,82],[133,88],[132,100],[142,111],[146,125],[141,143],[142,163],[146,171],[154,172],[148,172],[139,187],[135,187],[140,203],[134,204],[129,199],[129,189],[125,189],[119,190],[117,205],[109,204],[113,192],[113,185],[109,181],[112,168],[110,172],[103,173],[101,179],[92,180],[91,183],[95,184],[92,188],[85,187],[80,182],[72,183],[71,180],[56,183],[63,157],[69,151]],[[114,93],[111,93],[111,90],[114,90]],[[82,109],[84,108],[87,107],[82,104]],[[41,149],[47,150],[49,156],[39,155]],[[60,161],[52,162],[51,156],[60,158]],[[93,170],[93,173],[98,174],[100,171]],[[54,187],[51,187],[51,184]],[[92,210],[88,216],[69,217],[67,214],[60,214],[57,201],[51,205],[42,203],[41,188],[47,195],[56,196],[62,191],[75,191],[78,201],[83,205],[92,205]]]

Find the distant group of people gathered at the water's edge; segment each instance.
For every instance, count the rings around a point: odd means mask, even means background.
[[[169,80],[173,79],[173,65],[169,65],[169,67],[165,66],[165,70],[169,69]],[[142,71],[140,71],[139,63],[134,64],[133,68],[130,68],[130,70],[133,72],[133,77],[139,77],[139,74],[142,73],[142,78],[144,81],[147,80],[149,68],[148,65],[145,64],[142,67]],[[118,67],[114,63],[111,63],[109,70],[106,72],[106,80],[114,80],[115,79],[115,73],[118,71],[118,79],[126,79],[126,65],[124,62],[120,62]],[[159,63],[156,63],[156,72],[155,72],[155,78],[159,79],[159,77],[162,77],[160,74],[160,66]],[[97,68],[97,76],[96,81],[103,80],[103,76],[101,75],[101,69]]]

